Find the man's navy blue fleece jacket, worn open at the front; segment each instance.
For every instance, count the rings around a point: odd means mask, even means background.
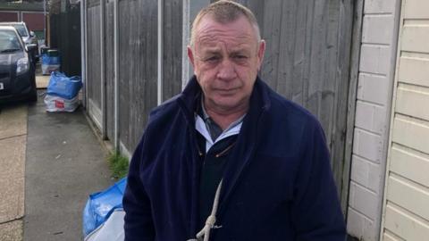
[[[130,162],[125,240],[185,241],[198,227],[202,159],[195,130],[198,82],[156,107]],[[324,133],[309,112],[257,79],[226,160],[210,240],[343,241],[345,224]]]

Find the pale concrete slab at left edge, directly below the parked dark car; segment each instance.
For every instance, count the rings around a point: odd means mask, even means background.
[[[27,134],[27,104],[9,104],[0,110],[0,139]]]

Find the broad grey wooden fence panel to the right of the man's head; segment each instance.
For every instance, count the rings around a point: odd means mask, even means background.
[[[349,103],[351,0],[241,0],[266,41],[261,77],[321,121],[341,193]]]

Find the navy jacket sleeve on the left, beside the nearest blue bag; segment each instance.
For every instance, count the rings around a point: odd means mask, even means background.
[[[140,178],[145,153],[144,139],[145,136],[142,137],[131,158],[127,187],[122,200],[123,210],[125,211],[125,241],[155,240],[150,199]]]

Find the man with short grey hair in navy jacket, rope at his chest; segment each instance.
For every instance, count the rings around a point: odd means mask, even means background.
[[[126,240],[344,240],[323,130],[257,77],[264,52],[244,6],[198,13],[195,76],[151,112],[130,163]]]

